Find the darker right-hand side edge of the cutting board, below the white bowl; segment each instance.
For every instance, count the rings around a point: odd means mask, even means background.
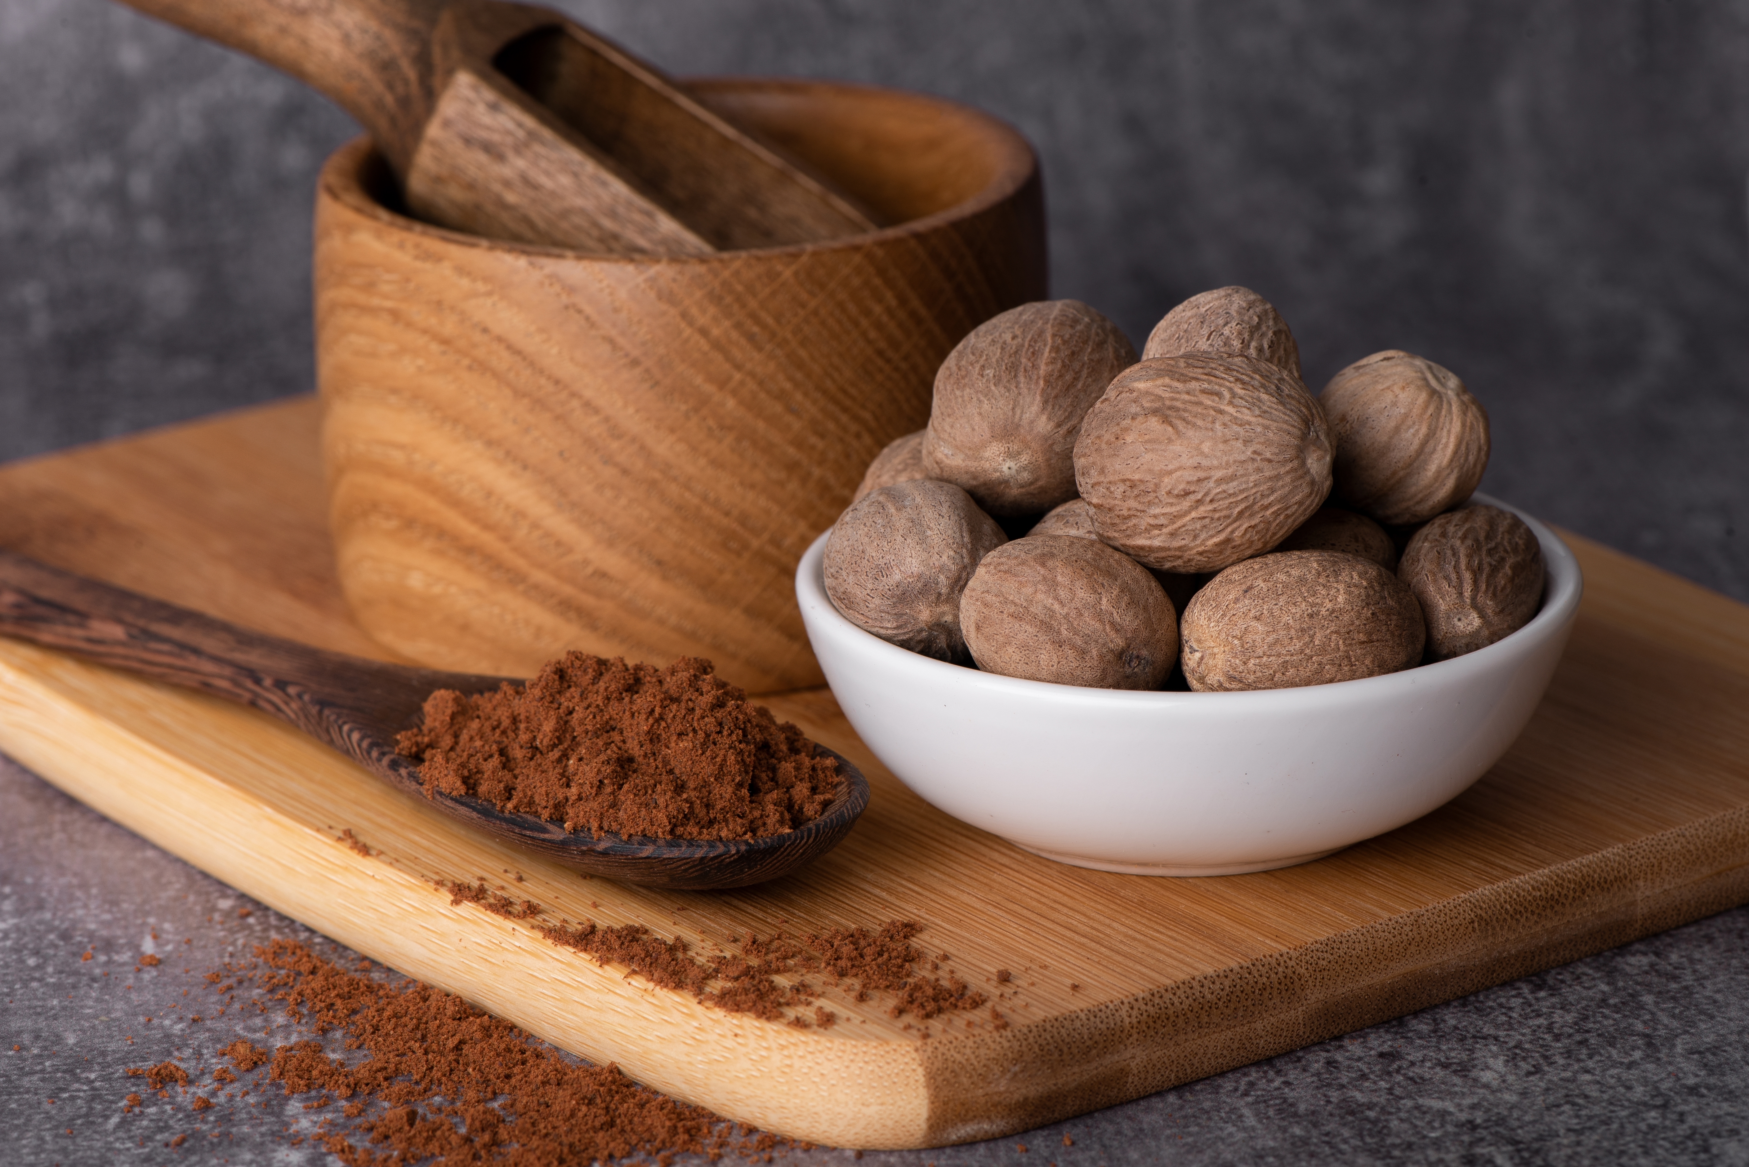
[[[1590,887],[1592,896],[1562,903],[1574,887]],[[930,1046],[923,1052],[930,1134],[937,1143],[965,1143],[1060,1122],[1443,1004],[1746,901],[1749,807],[1740,807],[1272,959],[1039,1022],[1006,1041],[1002,1034],[981,1046]],[[1490,919],[1527,908],[1543,908],[1550,919],[1529,934],[1488,934]],[[1448,943],[1427,945],[1429,934]],[[1109,1050],[1114,1032],[1132,1045]],[[1063,1050],[1081,1057],[1049,1057]],[[1004,1090],[1000,1106],[967,1090],[967,1083],[993,1080]],[[1027,1116],[1025,1125],[990,1120],[1016,1113]]]

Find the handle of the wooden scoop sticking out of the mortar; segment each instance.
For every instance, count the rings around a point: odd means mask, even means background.
[[[446,0],[121,0],[266,61],[332,98],[406,173],[434,96]]]

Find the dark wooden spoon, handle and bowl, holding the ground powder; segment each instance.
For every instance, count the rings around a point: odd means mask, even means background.
[[[838,845],[868,807],[868,782],[843,756],[840,789],[812,822],[754,840],[621,838],[567,833],[533,815],[504,814],[477,798],[425,789],[395,752],[434,689],[484,693],[505,677],[437,672],[327,653],[185,607],[73,576],[0,551],[0,633],[199,689],[287,721],[409,794],[574,871],[647,887],[745,887],[777,878]]]

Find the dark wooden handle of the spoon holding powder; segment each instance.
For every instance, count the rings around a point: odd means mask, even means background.
[[[252,705],[380,773],[402,768],[394,735],[423,698],[469,681],[250,632],[10,551],[0,635]]]

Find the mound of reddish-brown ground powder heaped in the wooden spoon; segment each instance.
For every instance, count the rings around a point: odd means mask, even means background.
[[[526,686],[439,689],[397,745],[427,794],[589,835],[782,835],[838,793],[831,756],[689,656],[656,668],[572,651]]]

